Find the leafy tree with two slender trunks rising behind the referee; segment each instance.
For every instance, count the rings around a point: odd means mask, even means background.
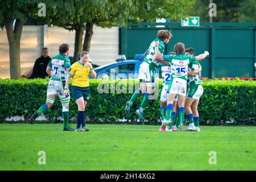
[[[69,8],[75,13],[64,21],[51,17],[52,24],[75,30],[75,51],[90,51],[90,42],[93,36],[93,26],[96,24],[102,28],[112,26],[127,26],[129,22],[148,21],[155,22],[156,18],[177,19],[183,16],[184,10],[193,5],[195,1],[175,0],[77,0],[73,1]],[[63,13],[64,11],[62,11]],[[61,12],[56,13],[61,14]],[[85,30],[85,38],[82,46],[82,35]]]

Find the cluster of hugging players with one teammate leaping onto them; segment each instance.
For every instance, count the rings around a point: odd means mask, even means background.
[[[158,31],[157,38],[151,42],[139,68],[139,89],[134,92],[130,101],[126,102],[125,110],[129,113],[133,102],[144,94],[141,106],[136,110],[139,119],[144,121],[143,109],[148,98],[155,92],[155,68],[160,64],[159,77],[162,77],[163,81],[160,97],[162,125],[159,131],[181,131],[185,113],[189,121],[187,131],[200,131],[197,106],[203,94],[203,86],[200,80],[199,61],[205,59],[209,52],[194,56],[193,48],[185,49],[183,43],[177,43],[174,46],[175,52],[163,55],[164,47],[171,38],[170,31]]]

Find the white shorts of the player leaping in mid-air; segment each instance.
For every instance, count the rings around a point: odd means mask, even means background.
[[[150,68],[150,65],[146,62],[143,62],[139,66],[139,79],[142,80],[141,84],[146,84],[147,86],[155,85],[155,68]],[[143,82],[146,81],[146,82]]]

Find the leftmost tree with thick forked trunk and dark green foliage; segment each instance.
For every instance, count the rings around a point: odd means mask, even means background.
[[[18,79],[20,74],[20,38],[26,18],[38,16],[40,0],[8,0],[0,1],[0,26],[6,28],[9,42],[10,77]],[[53,1],[47,1],[46,9],[51,11]],[[39,17],[40,18],[40,17]]]

